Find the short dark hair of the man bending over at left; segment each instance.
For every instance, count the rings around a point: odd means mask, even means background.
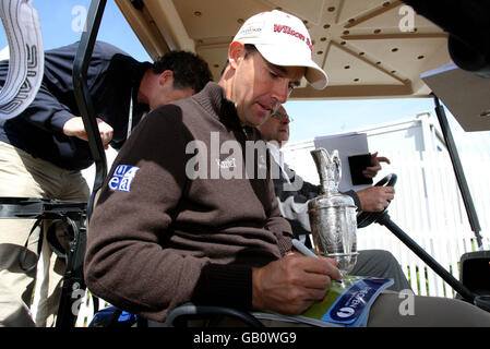
[[[213,80],[210,67],[200,56],[189,51],[170,51],[153,63],[153,72],[174,72],[174,87],[192,87],[196,93]]]

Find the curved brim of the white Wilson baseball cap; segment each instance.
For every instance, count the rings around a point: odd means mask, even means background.
[[[259,52],[270,63],[282,67],[304,67],[307,72],[304,77],[315,89],[323,89],[328,84],[328,76],[312,59],[304,59],[304,55],[295,57],[290,47],[279,47],[278,45],[255,44]],[[286,52],[286,53],[285,53]]]

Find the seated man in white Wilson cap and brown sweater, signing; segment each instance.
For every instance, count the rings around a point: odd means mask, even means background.
[[[311,53],[299,19],[258,14],[230,44],[218,84],[147,115],[91,219],[93,293],[159,322],[189,301],[298,314],[323,299],[340,273],[332,260],[291,252],[256,130],[303,76],[326,85]]]

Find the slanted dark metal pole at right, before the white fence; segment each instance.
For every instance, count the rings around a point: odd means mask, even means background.
[[[442,134],[444,136],[447,151],[450,153],[451,161],[453,163],[454,173],[456,174],[457,184],[459,186],[463,202],[465,204],[466,214],[468,215],[469,225],[471,230],[475,232],[477,239],[478,249],[482,250],[483,245],[480,236],[480,222],[478,221],[477,212],[473,203],[471,194],[469,192],[468,183],[466,182],[465,172],[463,171],[463,166],[459,160],[459,155],[457,154],[456,144],[454,143],[453,135],[451,133],[450,124],[447,123],[447,118],[445,116],[444,107],[441,106],[439,98],[434,96],[435,103],[435,113],[441,125]]]

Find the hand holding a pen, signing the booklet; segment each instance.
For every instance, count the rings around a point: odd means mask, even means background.
[[[325,297],[331,280],[340,280],[337,262],[290,253],[252,269],[252,305],[282,314],[300,314]]]

